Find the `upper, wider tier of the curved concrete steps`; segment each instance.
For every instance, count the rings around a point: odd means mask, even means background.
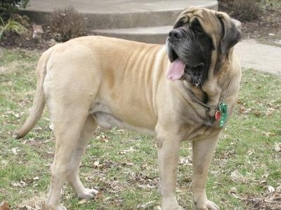
[[[30,0],[24,13],[36,22],[46,22],[54,8],[72,5],[88,20],[89,29],[118,29],[173,25],[189,6],[217,10],[212,0]]]

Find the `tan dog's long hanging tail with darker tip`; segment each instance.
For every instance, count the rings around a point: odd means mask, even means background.
[[[44,107],[46,104],[45,101],[45,94],[44,94],[44,80],[46,76],[46,65],[48,62],[48,59],[51,56],[51,52],[53,52],[53,48],[50,48],[46,52],[41,55],[39,62],[37,64],[37,87],[34,94],[34,100],[32,108],[30,109],[30,115],[27,117],[27,120],[25,120],[25,124],[22,125],[20,130],[15,133],[15,139],[20,139],[22,137],[25,137],[25,135],[32,130],[32,128],[37,124],[38,120],[40,119]]]

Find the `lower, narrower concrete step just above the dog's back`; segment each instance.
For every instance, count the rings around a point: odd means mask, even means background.
[[[91,33],[101,36],[124,38],[131,41],[164,44],[173,25],[159,27],[136,27],[126,29],[96,29]]]

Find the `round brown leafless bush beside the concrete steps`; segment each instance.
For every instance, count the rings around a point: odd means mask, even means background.
[[[86,35],[84,16],[73,6],[55,9],[50,15],[49,26],[55,41],[67,41],[70,38]]]

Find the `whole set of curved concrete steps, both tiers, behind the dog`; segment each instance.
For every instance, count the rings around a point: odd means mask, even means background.
[[[30,0],[24,12],[44,23],[54,8],[69,5],[85,16],[93,34],[146,43],[165,43],[171,25],[187,7],[218,9],[213,0]]]

